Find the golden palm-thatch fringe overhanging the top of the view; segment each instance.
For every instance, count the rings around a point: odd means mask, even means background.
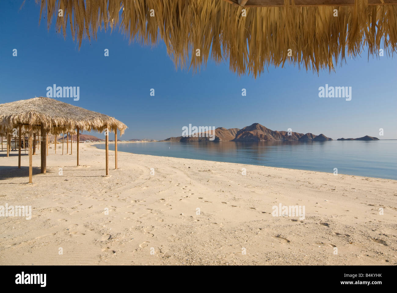
[[[268,66],[283,66],[285,62],[316,72],[331,71],[339,62],[346,61],[346,52],[355,57],[364,46],[368,46],[368,58],[370,54],[378,56],[379,49],[384,50],[385,56],[397,50],[397,5],[393,5],[397,4],[396,0],[41,0],[40,3],[40,18],[46,12],[49,26],[56,17],[57,30],[65,36],[69,25],[79,46],[85,37],[96,39],[98,28],[119,28],[130,40],[144,44],[164,40],[175,66],[185,67],[190,63],[195,70],[205,65],[208,58],[216,62],[229,58],[232,71],[255,77]],[[64,17],[58,17],[59,9],[63,9]],[[154,16],[150,16],[152,9]],[[242,15],[243,9],[246,16]],[[334,9],[338,10],[337,17],[333,16]],[[196,56],[197,49],[200,56]],[[288,56],[289,49],[292,56]]]

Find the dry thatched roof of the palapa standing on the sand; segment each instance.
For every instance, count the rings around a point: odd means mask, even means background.
[[[43,125],[54,134],[73,132],[77,127],[81,131],[102,132],[108,125],[109,131],[117,127],[122,135],[127,128],[114,117],[46,97],[0,104],[0,133],[12,133],[19,123],[24,125],[23,131],[31,123],[35,131],[40,131],[40,125]]]

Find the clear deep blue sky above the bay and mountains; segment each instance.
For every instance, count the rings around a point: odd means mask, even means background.
[[[46,88],[55,83],[80,87],[79,101],[58,100],[123,121],[129,129],[122,139],[179,136],[189,123],[242,128],[254,122],[333,139],[397,139],[396,56],[368,61],[364,51],[336,73],[327,70],[319,76],[287,66],[269,68],[257,79],[238,77],[228,61],[209,61],[195,74],[175,69],[162,41],[153,47],[129,44],[118,30],[101,31],[96,41],[83,40],[79,49],[69,26],[65,40],[54,25],[47,30],[46,19],[39,25],[34,0],[19,10],[22,2],[0,1],[0,103],[46,96]],[[352,100],[319,98],[318,87],[325,84],[352,87]],[[241,96],[242,88],[247,96]]]

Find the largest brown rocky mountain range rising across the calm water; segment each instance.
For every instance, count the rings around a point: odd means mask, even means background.
[[[210,140],[205,133],[198,137],[170,137],[164,141],[208,141]],[[312,133],[297,133],[288,131],[274,131],[264,127],[259,123],[246,126],[243,129],[218,127],[215,129],[214,141],[331,141],[324,134],[314,135]]]

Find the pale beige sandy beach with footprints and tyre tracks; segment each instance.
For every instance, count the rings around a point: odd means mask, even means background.
[[[0,264],[397,264],[396,180],[125,152],[114,170],[113,151],[105,177],[93,143],[81,166],[52,145],[44,175],[39,153],[27,184],[28,156],[1,152],[0,205],[32,216],[0,217]]]

